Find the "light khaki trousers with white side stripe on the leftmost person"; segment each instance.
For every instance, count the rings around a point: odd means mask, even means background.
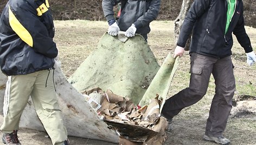
[[[1,130],[4,133],[18,130],[22,111],[27,106],[29,96],[31,96],[36,113],[53,144],[61,144],[67,140],[67,130],[63,126],[62,114],[54,88],[53,70],[8,76]]]

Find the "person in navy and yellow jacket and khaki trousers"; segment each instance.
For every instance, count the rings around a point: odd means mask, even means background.
[[[10,0],[0,20],[0,65],[8,76],[3,107],[2,141],[17,137],[29,96],[53,144],[69,144],[53,82],[54,24],[48,0]]]

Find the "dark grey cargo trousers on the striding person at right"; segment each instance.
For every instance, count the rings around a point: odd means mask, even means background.
[[[206,124],[206,135],[221,136],[226,128],[229,113],[232,109],[232,98],[235,91],[235,77],[231,56],[214,58],[192,53],[190,56],[189,88],[181,90],[166,100],[162,115],[171,119],[180,111],[195,104],[206,94],[210,75],[215,80],[215,95],[210,107]]]

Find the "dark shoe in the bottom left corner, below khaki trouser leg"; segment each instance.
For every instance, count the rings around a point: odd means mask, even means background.
[[[2,141],[4,144],[16,144],[21,145],[20,141],[18,141],[17,130],[14,130],[12,133],[3,133]]]

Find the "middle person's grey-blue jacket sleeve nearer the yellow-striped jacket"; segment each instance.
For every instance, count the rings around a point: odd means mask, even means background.
[[[117,5],[121,0],[103,0],[102,1],[102,8],[104,12],[104,16],[107,19],[107,22],[111,19],[114,19],[114,5]]]

